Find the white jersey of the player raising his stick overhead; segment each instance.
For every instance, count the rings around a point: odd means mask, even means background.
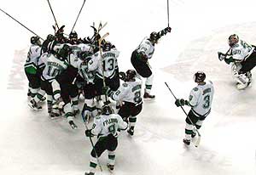
[[[136,48],[137,53],[143,53],[148,59],[154,54],[154,45],[149,42],[148,38],[144,38],[140,45]]]

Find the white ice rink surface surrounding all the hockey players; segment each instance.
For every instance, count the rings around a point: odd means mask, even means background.
[[[59,25],[68,34],[83,0],[51,0]],[[156,99],[145,101],[137,117],[135,136],[119,137],[116,175],[255,175],[256,82],[238,91],[229,65],[218,60],[228,49],[227,37],[236,33],[256,44],[255,0],[170,0],[172,32],[156,45],[150,65]],[[53,33],[55,23],[47,1],[2,0],[0,8],[40,37]],[[102,34],[119,49],[119,70],[131,68],[131,52],[151,31],[167,25],[166,0],[87,0],[75,26],[79,37],[93,34],[93,21],[108,21]],[[40,112],[27,105],[23,71],[32,33],[0,12],[2,64],[0,116],[0,175],[83,175],[89,167],[90,141],[84,125],[72,130],[63,117],[50,120],[46,105]],[[255,68],[256,70],[256,68]],[[256,72],[253,70],[253,77]],[[174,104],[188,98],[195,71],[205,71],[215,96],[212,113],[201,127],[201,144],[183,146],[185,116]],[[82,100],[80,100],[82,104]],[[189,111],[188,107],[185,110]],[[94,139],[96,141],[96,139]],[[100,158],[103,172],[107,155]]]

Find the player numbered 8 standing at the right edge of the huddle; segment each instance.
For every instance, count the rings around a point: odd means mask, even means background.
[[[113,100],[123,101],[119,109],[119,115],[124,121],[129,119],[128,133],[134,134],[134,127],[137,121],[137,115],[143,109],[143,100],[141,97],[143,81],[137,77],[137,72],[134,70],[126,71],[125,82],[115,92],[110,88],[103,88],[103,93],[106,93]]]

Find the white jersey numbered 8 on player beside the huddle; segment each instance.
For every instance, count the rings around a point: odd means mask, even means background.
[[[123,82],[119,89],[113,93],[112,99],[140,104],[142,103],[142,85],[143,81],[139,78],[136,78],[135,82]]]

